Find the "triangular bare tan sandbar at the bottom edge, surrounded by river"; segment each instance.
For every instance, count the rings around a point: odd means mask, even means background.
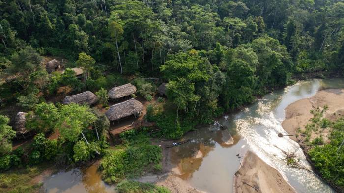
[[[234,193],[296,193],[282,175],[248,151],[235,173]]]

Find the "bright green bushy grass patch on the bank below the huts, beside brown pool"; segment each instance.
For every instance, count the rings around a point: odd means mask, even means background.
[[[105,182],[117,183],[126,177],[143,175],[150,169],[161,169],[161,148],[150,145],[144,131],[129,130],[122,133],[120,138],[122,144],[117,145],[116,150],[107,150],[101,161],[100,169]]]

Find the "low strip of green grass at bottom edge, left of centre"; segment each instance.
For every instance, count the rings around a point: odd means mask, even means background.
[[[162,186],[127,180],[120,182],[116,190],[118,193],[170,193],[167,188]]]

